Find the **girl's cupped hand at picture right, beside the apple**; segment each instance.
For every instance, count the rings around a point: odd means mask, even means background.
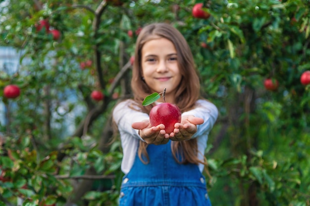
[[[197,124],[203,124],[204,119],[192,115],[182,116],[181,123],[174,124],[174,130],[170,133],[173,141],[184,141],[192,138],[197,132]]]

